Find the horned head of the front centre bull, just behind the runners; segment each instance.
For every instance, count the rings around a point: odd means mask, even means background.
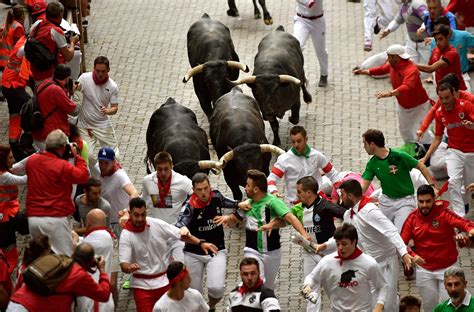
[[[271,157],[265,153],[275,153],[281,155],[285,153],[281,148],[270,144],[245,144],[225,153],[219,162],[225,167],[230,162],[236,172],[235,176],[239,178],[239,184],[245,186],[247,171],[249,169],[258,169],[268,174],[268,166]]]

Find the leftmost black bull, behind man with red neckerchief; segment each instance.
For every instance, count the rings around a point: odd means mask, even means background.
[[[198,126],[196,115],[173,98],[150,117],[146,132],[147,171],[155,155],[166,151],[173,158],[174,170],[192,178],[197,172],[209,172],[216,162],[209,161],[206,132]]]

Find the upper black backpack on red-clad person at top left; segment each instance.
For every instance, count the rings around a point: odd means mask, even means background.
[[[58,60],[56,53],[51,53],[47,47],[34,38],[40,26],[41,22],[36,25],[34,33],[30,34],[25,42],[25,57],[38,71],[47,71],[55,66]]]

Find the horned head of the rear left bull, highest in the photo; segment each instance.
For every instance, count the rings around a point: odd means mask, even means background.
[[[206,87],[211,93],[211,100],[215,103],[218,98],[232,89],[233,85],[229,82],[229,77],[232,77],[231,71],[235,69],[249,72],[248,66],[239,62],[208,61],[191,68],[184,76],[183,82],[188,82],[194,75],[202,74]]]

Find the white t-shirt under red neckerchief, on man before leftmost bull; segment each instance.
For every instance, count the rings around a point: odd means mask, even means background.
[[[165,197],[165,207],[158,207],[160,192],[158,191],[158,178],[156,172],[143,178],[142,198],[146,202],[151,216],[159,218],[170,224],[175,224],[179,212],[188,195],[193,194],[193,184],[188,177],[175,171],[171,172],[170,191]]]

